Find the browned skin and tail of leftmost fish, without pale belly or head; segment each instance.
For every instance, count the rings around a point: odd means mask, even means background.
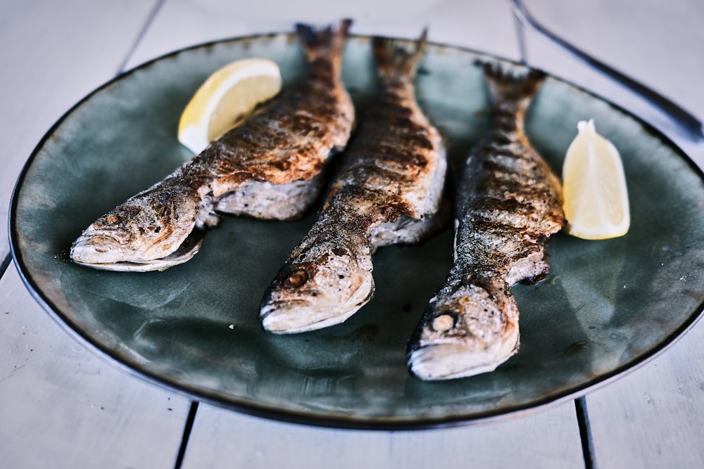
[[[340,75],[348,27],[345,20],[336,33],[329,27],[315,33],[298,25],[308,79],[211,143],[182,168],[184,180],[199,191],[208,186],[217,198],[246,181],[289,184],[320,174],[332,150],[346,145],[354,124]]]

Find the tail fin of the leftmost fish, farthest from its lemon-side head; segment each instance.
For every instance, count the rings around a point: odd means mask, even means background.
[[[332,60],[334,67],[340,70],[342,49],[351,25],[352,20],[350,19],[341,20],[337,29],[332,26],[316,29],[311,25],[297,23],[296,34],[298,34],[308,62],[313,63],[319,59]]]

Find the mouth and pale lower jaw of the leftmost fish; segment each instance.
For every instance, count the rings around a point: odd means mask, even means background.
[[[93,269],[121,272],[163,271],[189,261],[201,249],[205,233],[194,230],[171,254],[159,259],[124,259],[124,243],[103,233],[80,236],[71,247],[70,257],[76,264]],[[106,242],[107,241],[107,242]],[[113,241],[116,241],[113,242]]]

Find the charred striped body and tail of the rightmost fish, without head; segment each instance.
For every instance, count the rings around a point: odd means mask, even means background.
[[[494,87],[494,126],[472,153],[461,183],[458,257],[477,272],[505,276],[565,223],[560,181],[523,132],[540,72],[515,79],[485,67]],[[523,278],[517,278],[517,281]]]

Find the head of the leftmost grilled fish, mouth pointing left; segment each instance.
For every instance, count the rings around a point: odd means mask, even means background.
[[[81,233],[71,247],[71,259],[99,269],[130,270],[124,269],[124,263],[149,264],[173,255],[194,230],[198,213],[197,203],[179,202],[128,200]]]

